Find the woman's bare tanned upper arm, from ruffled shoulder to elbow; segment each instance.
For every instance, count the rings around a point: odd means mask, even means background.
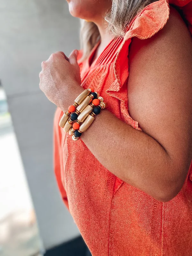
[[[154,36],[132,38],[128,104],[130,116],[172,159],[166,175],[181,188],[192,159],[192,40],[173,7]]]

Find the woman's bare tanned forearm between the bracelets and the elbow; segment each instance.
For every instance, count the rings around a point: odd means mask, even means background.
[[[83,90],[78,87],[76,92],[70,91],[68,99],[75,99]],[[81,139],[103,166],[126,183],[157,200],[164,200],[168,188],[171,193],[169,173],[173,166],[165,149],[107,109],[101,110]]]

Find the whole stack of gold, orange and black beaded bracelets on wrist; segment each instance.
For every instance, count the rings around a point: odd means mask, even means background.
[[[106,107],[107,102],[103,102],[99,93],[94,92],[92,88],[85,89],[76,98],[74,104],[69,106],[68,111],[63,114],[59,125],[63,127],[64,132],[69,132],[72,135],[73,140],[78,140],[82,132],[85,132],[92,124],[100,110]],[[74,122],[75,120],[76,122]]]

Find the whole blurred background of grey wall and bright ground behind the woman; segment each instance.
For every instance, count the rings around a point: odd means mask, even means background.
[[[84,256],[53,172],[56,107],[39,89],[41,62],[79,49],[65,0],[0,1],[0,256]]]

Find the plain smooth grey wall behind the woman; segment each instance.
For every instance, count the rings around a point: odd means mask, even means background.
[[[61,201],[52,168],[55,106],[39,89],[41,62],[79,48],[79,20],[65,0],[1,0],[0,79],[36,210],[44,247],[79,235]],[[11,158],[10,158],[11,161]]]

